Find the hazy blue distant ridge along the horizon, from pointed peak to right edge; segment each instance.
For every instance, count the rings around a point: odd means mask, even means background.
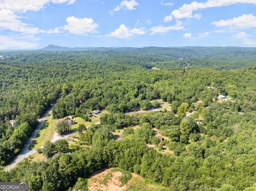
[[[39,51],[113,51],[126,53],[140,53],[151,55],[162,55],[170,58],[226,58],[234,59],[243,56],[243,58],[255,58],[256,48],[254,47],[203,47],[203,46],[186,46],[186,47],[62,47],[56,45],[48,45]]]

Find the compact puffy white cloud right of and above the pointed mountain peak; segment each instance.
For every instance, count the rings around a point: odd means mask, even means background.
[[[97,33],[96,28],[99,26],[98,23],[94,23],[92,18],[69,16],[66,21],[68,24],[64,26],[64,29],[76,35],[87,36],[89,33]]]

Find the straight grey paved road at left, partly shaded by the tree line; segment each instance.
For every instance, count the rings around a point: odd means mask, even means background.
[[[53,105],[44,113],[42,118],[38,120],[38,125],[37,125],[35,131],[33,132],[33,134],[28,139],[27,144],[22,149],[22,151],[13,159],[13,161],[9,164],[9,166],[5,169],[5,171],[10,171],[20,161],[22,161],[23,159],[25,159],[29,155],[32,155],[32,154],[36,153],[36,150],[30,151],[29,147],[32,144],[33,140],[36,138],[36,136],[38,134],[38,131],[43,127],[43,124],[44,124],[46,118],[48,117],[50,111],[52,110],[52,107],[53,107]]]

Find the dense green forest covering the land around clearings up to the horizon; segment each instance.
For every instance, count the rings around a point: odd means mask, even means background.
[[[71,190],[78,178],[119,167],[166,190],[255,190],[255,50],[202,49],[1,53],[2,168],[51,104],[55,119],[108,113],[81,131],[81,147],[44,162],[25,160],[2,171],[0,181],[29,181],[30,190]],[[127,114],[157,108],[158,99],[171,110]],[[157,139],[155,128],[168,139]],[[122,140],[111,134],[115,129],[123,130]],[[158,152],[163,146],[173,154]]]

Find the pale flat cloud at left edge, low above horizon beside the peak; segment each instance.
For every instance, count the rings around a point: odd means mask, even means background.
[[[37,43],[0,35],[0,49],[27,49],[37,47]]]

